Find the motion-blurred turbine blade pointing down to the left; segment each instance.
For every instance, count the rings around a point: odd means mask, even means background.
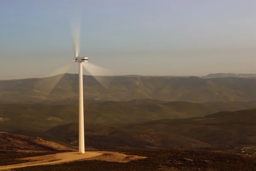
[[[54,72],[47,75],[45,78],[41,78],[36,84],[35,89],[39,90],[42,97],[47,97],[50,95],[53,88],[58,84],[61,78],[64,76],[65,73],[70,70],[74,62],[64,65],[63,67],[58,68]]]

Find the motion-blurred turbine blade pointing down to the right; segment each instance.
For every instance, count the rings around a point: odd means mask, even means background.
[[[107,89],[113,80],[113,72],[111,70],[99,67],[97,65],[85,62],[83,64],[85,70],[87,70],[99,83]]]

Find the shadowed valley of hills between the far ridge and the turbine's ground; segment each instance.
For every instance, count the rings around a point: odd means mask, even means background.
[[[0,104],[0,131],[78,146],[74,101]],[[85,145],[99,150],[254,149],[256,102],[166,102],[151,99],[84,103]],[[36,122],[35,122],[36,121]]]

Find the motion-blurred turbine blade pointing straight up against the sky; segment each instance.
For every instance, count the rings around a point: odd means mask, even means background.
[[[80,51],[81,12],[76,11],[70,17],[70,29],[73,38],[74,55],[77,57]]]

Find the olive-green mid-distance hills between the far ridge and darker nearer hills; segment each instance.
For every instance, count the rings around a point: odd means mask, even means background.
[[[0,104],[0,131],[20,133],[45,131],[58,125],[78,121],[75,100],[54,103]],[[87,123],[129,124],[159,119],[182,119],[206,116],[219,111],[256,108],[256,102],[207,102],[132,100],[84,101],[84,121]]]

